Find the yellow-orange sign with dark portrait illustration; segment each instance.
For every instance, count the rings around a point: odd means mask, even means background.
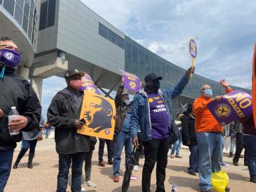
[[[85,120],[77,133],[113,140],[115,129],[115,101],[107,97],[85,91],[80,119]]]

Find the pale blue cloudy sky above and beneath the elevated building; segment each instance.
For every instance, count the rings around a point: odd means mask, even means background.
[[[231,85],[251,88],[255,1],[81,1],[131,39],[183,68],[191,65],[187,45],[193,37],[198,50],[197,74],[216,81],[225,78]],[[46,107],[65,82],[57,77],[43,82]],[[51,86],[55,91],[49,90],[49,82],[59,85]]]

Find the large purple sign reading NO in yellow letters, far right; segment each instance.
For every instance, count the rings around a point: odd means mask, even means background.
[[[253,113],[251,95],[240,90],[224,95],[221,101],[211,101],[207,107],[221,126]]]

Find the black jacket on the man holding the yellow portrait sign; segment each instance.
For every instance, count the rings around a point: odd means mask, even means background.
[[[83,94],[81,95],[83,97]],[[83,98],[82,98],[83,99]],[[77,133],[75,119],[79,119],[81,113],[75,107],[73,97],[67,88],[59,91],[47,111],[47,120],[55,127],[56,151],[61,154],[73,154],[79,152],[89,152],[90,137]]]

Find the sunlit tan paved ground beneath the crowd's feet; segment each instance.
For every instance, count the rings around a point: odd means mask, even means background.
[[[20,146],[17,147],[20,149]],[[105,148],[105,151],[107,149]],[[14,160],[17,157],[18,151],[15,151]],[[187,149],[181,150],[181,155],[183,159],[168,159],[168,166],[166,172],[165,188],[166,191],[171,191],[171,185],[175,183],[178,185],[178,191],[199,191],[198,176],[192,176],[187,174],[188,157],[189,151]],[[228,157],[223,158],[229,167],[223,168],[223,170],[229,173],[229,187],[231,191],[245,191],[254,192],[256,190],[256,184],[249,182],[249,172],[247,167],[240,165],[235,167],[231,163],[231,159]],[[107,157],[105,156],[105,160]],[[97,147],[95,153],[93,153],[93,169],[91,180],[97,184],[97,188],[89,188],[83,186],[87,191],[121,191],[121,182],[114,183],[112,181],[112,167],[111,165],[106,165],[106,167],[99,167],[97,165]],[[125,167],[122,161],[121,174],[125,171]],[[243,163],[243,159],[241,159]],[[44,139],[40,141],[37,145],[35,159],[33,161],[34,168],[27,169],[27,156],[23,157],[21,160],[21,167],[19,169],[11,170],[11,177],[7,183],[5,189],[6,192],[37,192],[37,191],[55,191],[57,183],[57,172],[58,172],[58,157],[55,153],[55,143],[53,139]],[[134,175],[139,177],[138,181],[131,181],[131,187],[129,191],[141,191],[141,171],[142,171],[143,159],[140,161],[139,172],[134,172]],[[69,175],[71,176],[71,175]],[[69,177],[69,185],[71,178]],[[84,173],[83,173],[84,181]],[[123,181],[123,177],[121,177]],[[151,178],[152,191],[155,191],[155,170]],[[68,186],[67,191],[71,191]]]

